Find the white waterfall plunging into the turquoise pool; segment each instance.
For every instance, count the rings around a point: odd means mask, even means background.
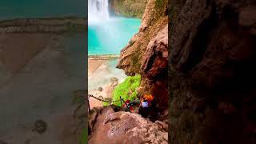
[[[108,0],[88,0],[88,20],[101,22],[109,18]]]

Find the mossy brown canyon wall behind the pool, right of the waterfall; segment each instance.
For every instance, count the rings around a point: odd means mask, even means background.
[[[148,0],[109,0],[110,13],[123,17],[142,18]]]

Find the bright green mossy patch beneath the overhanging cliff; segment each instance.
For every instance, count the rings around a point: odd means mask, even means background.
[[[113,92],[113,101],[117,101],[120,99],[120,96],[126,101],[129,99],[130,101],[133,101],[135,98],[137,98],[137,91],[136,89],[141,84],[141,75],[136,74],[133,77],[128,77],[126,80],[122,83],[120,83]],[[114,105],[121,106],[120,101],[114,102]]]

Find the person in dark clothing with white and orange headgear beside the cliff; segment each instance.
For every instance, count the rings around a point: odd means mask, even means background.
[[[141,98],[141,104],[138,108],[138,114],[141,114],[143,118],[147,118],[149,113],[150,113],[150,106],[152,104],[152,101],[154,100],[153,95],[149,94],[145,94],[142,98]]]

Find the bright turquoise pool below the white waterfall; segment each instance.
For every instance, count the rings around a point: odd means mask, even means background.
[[[88,54],[120,54],[120,50],[138,33],[141,20],[110,18],[104,22],[89,22]]]

